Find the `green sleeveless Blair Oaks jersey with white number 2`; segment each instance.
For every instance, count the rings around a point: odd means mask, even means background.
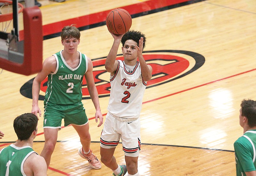
[[[88,61],[85,54],[80,52],[79,54],[80,62],[76,68],[68,66],[62,51],[53,54],[57,61],[57,68],[54,73],[48,75],[44,105],[68,105],[82,101],[82,81],[88,69]]]

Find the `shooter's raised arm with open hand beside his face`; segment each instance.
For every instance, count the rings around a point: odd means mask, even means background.
[[[143,50],[143,37],[139,40],[139,47],[136,46],[138,49],[137,55],[140,62],[140,68],[141,68],[141,74],[144,81],[149,81],[152,77],[152,67],[150,65],[147,65],[146,61],[144,60],[144,57],[142,55]]]

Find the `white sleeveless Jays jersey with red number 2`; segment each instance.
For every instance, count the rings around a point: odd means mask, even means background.
[[[142,106],[142,98],[147,86],[141,75],[140,62],[135,66],[127,66],[124,61],[117,60],[116,74],[110,76],[110,98],[108,112],[122,118],[138,118]],[[129,68],[130,67],[130,71]]]

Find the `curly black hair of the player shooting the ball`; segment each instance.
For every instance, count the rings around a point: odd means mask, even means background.
[[[144,49],[145,48],[145,43],[146,43],[147,40],[146,40],[145,35],[142,32],[139,32],[139,31],[129,30],[122,37],[121,43],[124,46],[124,43],[126,42],[126,40],[133,40],[133,41],[137,42],[137,46],[139,46],[140,37],[143,37],[143,49]]]

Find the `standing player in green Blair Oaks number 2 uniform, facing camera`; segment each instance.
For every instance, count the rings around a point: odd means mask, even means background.
[[[100,169],[99,159],[90,150],[91,136],[89,133],[88,118],[82,103],[82,81],[86,85],[96,109],[95,120],[103,123],[100,110],[99,96],[92,74],[92,60],[85,54],[77,51],[80,43],[80,31],[73,25],[65,26],[61,31],[61,43],[64,49],[46,58],[42,71],[36,75],[32,86],[31,113],[41,116],[38,107],[38,97],[41,82],[48,76],[48,85],[44,100],[44,137],[45,143],[41,156],[47,166],[57,142],[58,131],[61,129],[61,120],[64,125],[72,125],[77,131],[82,147],[78,154],[88,160],[93,169]]]

